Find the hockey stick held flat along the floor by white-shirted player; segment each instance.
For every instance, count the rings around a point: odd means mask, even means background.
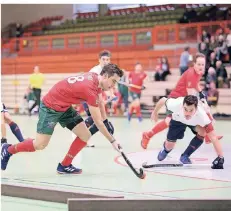
[[[143,163],[143,168],[164,168],[164,167],[211,167],[211,164],[183,164],[183,163],[156,163],[156,164],[147,164]]]

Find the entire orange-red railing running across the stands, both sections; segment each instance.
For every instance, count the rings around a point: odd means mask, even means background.
[[[100,49],[147,50],[154,45],[198,42],[205,29],[215,34],[220,28],[231,28],[231,21],[160,25],[154,28],[61,34],[12,39],[8,48],[19,55],[45,55],[92,52]],[[3,48],[5,46],[3,45]]]

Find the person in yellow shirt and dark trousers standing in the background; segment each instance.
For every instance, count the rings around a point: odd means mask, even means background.
[[[30,75],[29,83],[36,97],[35,103],[29,109],[29,115],[31,115],[31,111],[35,108],[35,106],[38,105],[39,107],[40,105],[42,85],[44,83],[44,75],[40,73],[39,66],[34,67],[34,73]]]

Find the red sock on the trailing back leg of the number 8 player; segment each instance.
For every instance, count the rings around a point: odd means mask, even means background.
[[[18,152],[34,152],[34,151],[35,151],[35,148],[33,144],[33,139],[24,140],[23,142],[20,142],[15,145],[11,145],[8,148],[8,152],[10,154],[16,154]]]

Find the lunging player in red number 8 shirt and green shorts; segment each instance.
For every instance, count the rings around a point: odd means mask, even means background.
[[[5,170],[10,157],[18,152],[34,152],[44,149],[54,132],[57,123],[71,130],[77,137],[71,144],[64,160],[58,164],[57,172],[61,174],[79,174],[81,169],[71,163],[75,156],[86,146],[91,137],[91,132],[86,127],[82,117],[72,107],[81,101],[87,102],[94,124],[99,131],[119,151],[119,144],[108,132],[103,120],[105,113],[102,111],[104,103],[101,92],[107,91],[123,76],[123,71],[115,64],[103,67],[100,75],[85,73],[72,76],[55,84],[44,96],[39,110],[36,139],[28,139],[16,145],[4,144],[1,151],[1,168]]]

